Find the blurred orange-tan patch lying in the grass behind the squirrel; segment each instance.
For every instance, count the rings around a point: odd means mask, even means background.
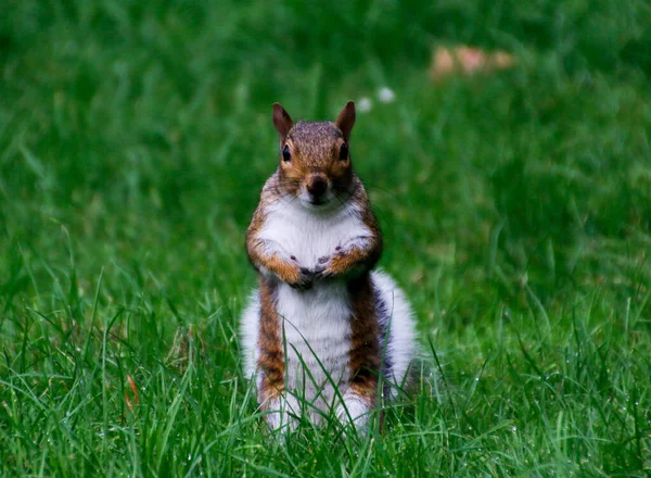
[[[496,70],[511,68],[514,64],[515,58],[502,50],[488,52],[464,45],[454,48],[441,47],[432,54],[430,78],[439,80],[452,75],[492,73]]]

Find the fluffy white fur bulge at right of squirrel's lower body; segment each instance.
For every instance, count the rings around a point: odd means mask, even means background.
[[[395,399],[408,382],[409,366],[416,354],[413,311],[405,292],[386,273],[371,273],[375,307],[382,334],[380,351],[385,398]]]

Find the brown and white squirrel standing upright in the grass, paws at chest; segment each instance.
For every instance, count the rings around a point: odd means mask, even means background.
[[[331,411],[365,429],[379,395],[405,386],[413,357],[411,307],[372,271],[382,235],[353,172],[354,124],[352,101],[334,123],[294,123],[273,104],[279,165],[246,231],[259,287],[242,317],[246,374],[272,430]]]

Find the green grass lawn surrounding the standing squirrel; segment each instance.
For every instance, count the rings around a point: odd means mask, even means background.
[[[0,5],[3,476],[651,475],[651,7]],[[516,67],[427,78],[432,48]],[[271,103],[352,152],[423,378],[269,440],[239,358]]]

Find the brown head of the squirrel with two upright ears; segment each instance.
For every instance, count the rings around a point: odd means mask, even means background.
[[[334,123],[294,123],[284,108],[275,103],[273,125],[280,135],[278,174],[284,191],[309,207],[347,199],[354,186],[348,149],[354,124],[353,101],[346,103]]]

